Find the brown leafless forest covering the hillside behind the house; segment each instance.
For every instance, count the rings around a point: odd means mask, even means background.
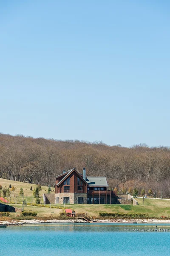
[[[90,176],[106,176],[110,188],[151,188],[170,197],[170,148],[60,141],[0,134],[0,177],[54,185],[62,170],[86,168]]]

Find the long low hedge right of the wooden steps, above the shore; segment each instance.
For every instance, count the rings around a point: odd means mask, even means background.
[[[99,212],[100,217],[107,218],[123,218],[123,219],[148,219],[149,216],[147,213],[108,213],[108,212]]]

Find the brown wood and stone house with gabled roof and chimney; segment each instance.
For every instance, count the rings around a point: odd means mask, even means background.
[[[116,204],[115,191],[108,190],[106,177],[86,176],[86,170],[79,174],[76,169],[55,177],[56,204]]]

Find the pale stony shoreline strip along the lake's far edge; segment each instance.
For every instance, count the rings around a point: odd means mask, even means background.
[[[109,223],[125,223],[125,224],[134,224],[134,222],[137,222],[137,224],[170,224],[170,220],[157,220],[157,219],[130,219],[130,220],[123,220],[123,219],[104,219],[104,220],[100,220],[100,219],[95,219],[93,223],[103,223],[103,224],[109,224]],[[61,224],[67,224],[67,223],[88,223],[87,221],[84,221],[82,219],[74,219],[74,220],[20,220],[20,221],[15,221],[15,220],[11,220],[11,221],[0,221],[0,224],[6,224],[8,225],[23,225],[23,224],[39,224],[39,223],[48,223],[48,224],[53,224],[53,223],[61,223]]]

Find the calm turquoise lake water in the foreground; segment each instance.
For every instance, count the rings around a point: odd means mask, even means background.
[[[0,256],[170,256],[170,232],[139,224],[28,224],[0,228]],[[170,226],[159,225],[160,228]]]

